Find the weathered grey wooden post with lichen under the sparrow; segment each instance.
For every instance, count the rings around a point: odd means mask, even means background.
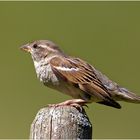
[[[30,139],[92,139],[92,125],[83,108],[46,107],[37,113]]]

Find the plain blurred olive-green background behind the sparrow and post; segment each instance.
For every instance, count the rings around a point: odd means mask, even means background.
[[[140,95],[140,2],[0,2],[0,138],[28,138],[37,111],[70,97],[36,78],[25,43],[49,39]],[[140,105],[86,109],[94,138],[140,138]]]

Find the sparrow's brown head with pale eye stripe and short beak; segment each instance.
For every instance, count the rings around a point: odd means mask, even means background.
[[[49,56],[62,53],[59,47],[49,40],[37,40],[21,46],[21,49],[29,52],[33,60],[37,62]]]

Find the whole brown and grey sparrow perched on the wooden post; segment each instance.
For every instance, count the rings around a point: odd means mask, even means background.
[[[57,106],[96,102],[120,109],[117,101],[140,103],[140,96],[113,82],[86,61],[66,55],[52,41],[37,40],[21,49],[31,54],[37,77],[45,86],[73,98]]]

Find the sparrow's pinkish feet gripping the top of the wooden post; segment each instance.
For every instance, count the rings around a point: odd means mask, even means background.
[[[86,101],[82,100],[82,99],[72,99],[72,100],[67,100],[64,101],[62,103],[58,103],[58,104],[48,104],[49,107],[58,107],[58,106],[72,106],[75,107],[77,109],[82,110],[82,106],[86,106]]]

